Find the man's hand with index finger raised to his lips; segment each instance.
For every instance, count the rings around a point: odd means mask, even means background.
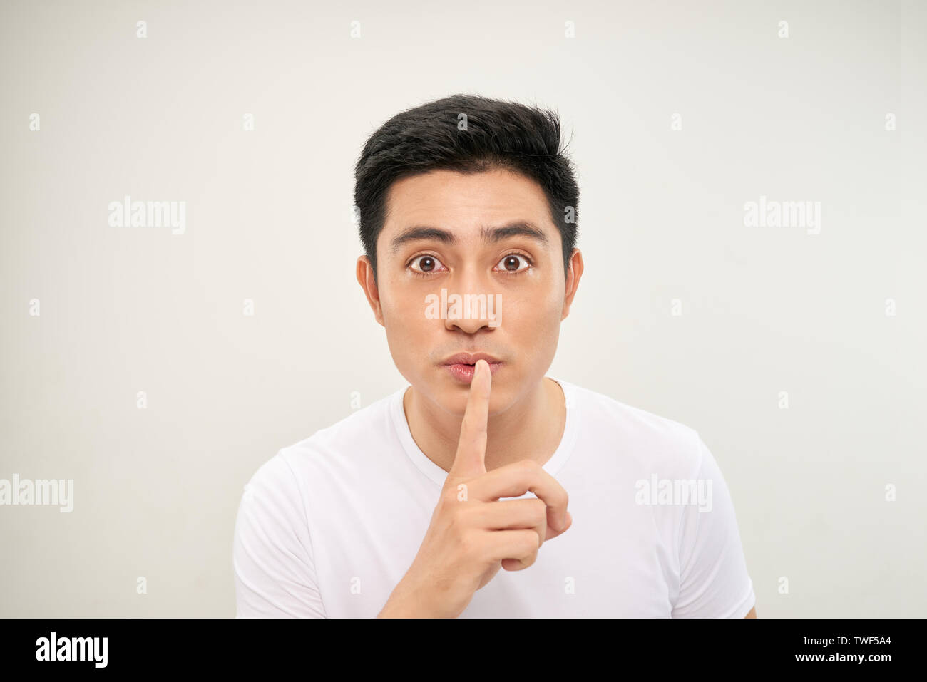
[[[536,461],[516,461],[487,473],[491,382],[489,364],[478,360],[438,506],[412,566],[380,615],[454,618],[500,568],[527,568],[544,540],[572,523],[564,487]],[[500,499],[529,490],[538,497]]]

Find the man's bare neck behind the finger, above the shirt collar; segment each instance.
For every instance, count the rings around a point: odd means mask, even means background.
[[[402,397],[406,421],[415,444],[444,471],[451,470],[463,415],[450,414],[410,386]],[[514,461],[534,460],[543,465],[560,445],[566,424],[563,389],[543,377],[507,410],[489,416],[486,436],[486,470]]]

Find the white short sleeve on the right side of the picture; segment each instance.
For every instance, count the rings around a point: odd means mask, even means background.
[[[756,603],[730,491],[717,461],[697,438],[699,503],[682,507],[679,596],[674,618],[743,618]],[[702,483],[699,483],[702,482]]]

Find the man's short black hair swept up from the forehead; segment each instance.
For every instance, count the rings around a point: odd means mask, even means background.
[[[354,172],[354,205],[374,280],[376,238],[386,222],[393,183],[430,170],[496,169],[518,172],[540,185],[560,231],[564,272],[569,272],[579,188],[561,146],[557,113],[480,95],[451,95],[396,114],[363,145]]]

